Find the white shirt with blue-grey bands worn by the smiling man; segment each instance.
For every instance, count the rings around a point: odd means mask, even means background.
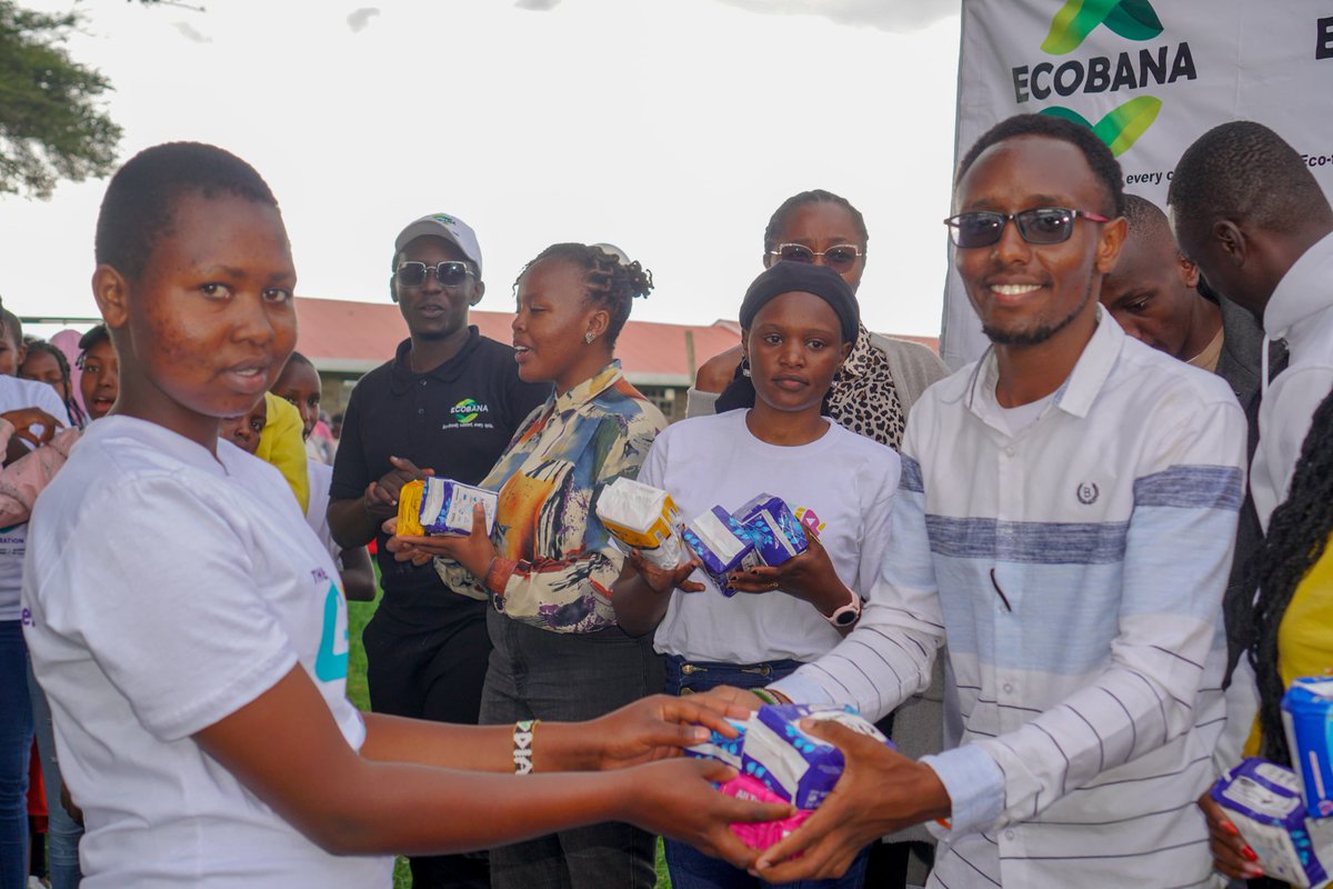
[[[917,404],[861,622],[776,686],[880,714],[948,641],[964,734],[925,758],[953,804],[932,886],[1206,885],[1245,416],[1100,309],[1034,423],[1009,432],[996,381],[988,355]]]

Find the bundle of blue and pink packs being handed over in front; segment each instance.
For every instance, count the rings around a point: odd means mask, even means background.
[[[802,720],[836,721],[893,746],[850,706],[781,704],[761,706],[745,722],[729,720],[740,732],[736,738],[713,732],[708,741],[685,749],[686,756],[718,760],[740,772],[718,788],[722,793],[798,809],[782,821],[733,824],[732,830],[752,849],[766,849],[790,836],[842,777],[842,752],[805,732]]]

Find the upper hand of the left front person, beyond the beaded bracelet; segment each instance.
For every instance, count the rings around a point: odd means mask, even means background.
[[[681,748],[702,744],[710,732],[733,738],[737,730],[726,717],[744,720],[752,709],[706,694],[653,694],[592,720],[587,732],[601,741],[596,768],[619,769],[680,756]]]

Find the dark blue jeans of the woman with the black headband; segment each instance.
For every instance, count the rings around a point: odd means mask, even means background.
[[[706,692],[718,685],[762,688],[790,676],[798,666],[801,666],[800,661],[716,664],[712,661],[686,661],[682,657],[668,654],[665,690],[668,694],[692,694]],[[869,846],[866,846],[852,861],[848,872],[837,880],[770,884],[684,842],[664,840],[663,852],[666,857],[666,869],[670,872],[673,889],[860,889],[861,884],[865,882],[865,865],[869,858]]]

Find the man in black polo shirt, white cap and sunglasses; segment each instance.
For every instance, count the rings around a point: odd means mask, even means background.
[[[384,600],[365,628],[371,706],[377,713],[476,722],[491,641],[485,602],[445,586],[432,565],[397,562],[380,525],[420,470],[477,484],[549,384],[519,379],[513,349],[468,325],[481,249],[453,216],[427,216],[393,247],[389,296],[408,324],[392,361],[365,375],[348,401],[329,490],[329,529],[341,546],[379,544]],[[420,468],[420,469],[419,469]],[[412,860],[417,889],[489,886],[485,861]]]

